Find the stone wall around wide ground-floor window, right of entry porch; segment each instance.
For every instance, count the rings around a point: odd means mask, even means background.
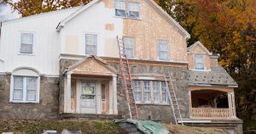
[[[129,117],[128,106],[125,98],[125,90],[123,89],[123,79],[120,74],[119,64],[113,63],[116,70],[119,71],[118,76],[118,110],[119,114],[123,117]],[[176,66],[163,66],[163,65],[150,65],[150,64],[140,64],[132,62],[131,64],[131,75],[150,76],[150,74],[159,74],[170,72],[172,78],[177,82],[176,94],[177,102],[181,109],[181,114],[183,118],[189,118],[189,92],[187,85],[187,68],[186,67],[176,67]],[[151,75],[155,76],[155,75]],[[171,105],[160,105],[160,104],[138,104],[138,113],[141,120],[158,120],[160,122],[174,123],[174,117],[172,114]]]

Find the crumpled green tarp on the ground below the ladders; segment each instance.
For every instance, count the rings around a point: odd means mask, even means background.
[[[121,119],[121,120],[113,120],[115,123],[131,123],[137,126],[137,129],[142,131],[145,134],[172,134],[170,131],[166,130],[164,126],[162,126],[158,122],[154,122],[151,120],[131,120],[131,119]]]

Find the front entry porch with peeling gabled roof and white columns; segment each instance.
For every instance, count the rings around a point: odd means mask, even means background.
[[[116,71],[89,56],[63,72],[63,114],[118,114]]]

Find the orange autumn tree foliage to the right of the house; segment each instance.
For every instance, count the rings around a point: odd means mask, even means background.
[[[219,63],[235,78],[236,111],[245,129],[256,129],[256,1],[155,0],[191,38],[219,53]]]

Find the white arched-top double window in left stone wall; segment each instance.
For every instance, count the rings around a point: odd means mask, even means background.
[[[10,102],[39,103],[40,77],[37,70],[16,69],[12,73]]]

